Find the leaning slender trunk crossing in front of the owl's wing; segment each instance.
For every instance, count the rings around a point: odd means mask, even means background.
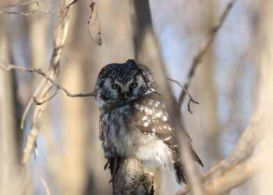
[[[146,1],[132,1],[134,6],[134,15],[132,15],[132,23],[134,24],[134,49],[135,58],[137,61],[146,65],[153,66],[155,72],[155,79],[159,84],[160,92],[166,102],[166,109],[171,117],[172,125],[176,129],[176,138],[180,149],[179,157],[182,166],[185,168],[187,181],[192,194],[202,195],[203,190],[200,182],[200,174],[194,166],[192,153],[187,138],[185,137],[185,129],[182,127],[181,118],[178,113],[180,110],[176,99],[173,97],[171,88],[169,86],[164,62],[160,54],[159,43],[157,36],[153,30],[153,22],[150,14],[150,6],[148,0]]]

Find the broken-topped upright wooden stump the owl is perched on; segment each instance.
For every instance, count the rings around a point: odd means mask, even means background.
[[[114,161],[110,164],[114,172]],[[144,173],[143,164],[136,158],[120,157],[116,174],[112,180],[114,195],[153,195],[154,173]]]

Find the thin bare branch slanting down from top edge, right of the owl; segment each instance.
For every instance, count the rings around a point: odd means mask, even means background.
[[[228,13],[230,12],[231,8],[233,7],[233,4],[236,0],[231,0],[226,8],[224,9],[223,13],[219,17],[219,22],[214,27],[212,27],[212,30],[210,32],[210,35],[208,36],[207,40],[203,43],[203,45],[199,48],[197,54],[194,56],[194,59],[192,60],[192,64],[190,66],[189,74],[187,75],[187,83],[185,84],[185,89],[188,90],[189,84],[192,82],[192,77],[194,76],[194,72],[196,70],[196,67],[199,63],[201,63],[203,56],[208,51],[208,48],[210,45],[212,45],[212,42],[215,38],[216,33],[219,31],[221,26],[224,24],[224,21],[226,20],[226,17]],[[182,102],[184,102],[186,96],[186,91],[182,91],[178,100],[178,104],[181,107]]]

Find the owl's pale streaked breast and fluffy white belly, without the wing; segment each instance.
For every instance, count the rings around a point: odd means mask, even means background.
[[[132,104],[115,109],[104,109],[100,117],[100,139],[105,157],[138,157],[143,161],[155,161],[171,171],[169,148],[157,137],[143,134],[134,121],[136,114]]]

